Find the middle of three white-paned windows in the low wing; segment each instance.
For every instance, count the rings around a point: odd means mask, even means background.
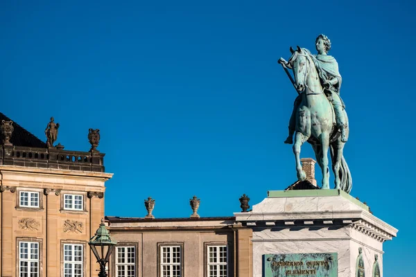
[[[161,247],[162,256],[160,258],[160,272],[162,277],[180,277],[182,276],[181,266],[181,247]]]

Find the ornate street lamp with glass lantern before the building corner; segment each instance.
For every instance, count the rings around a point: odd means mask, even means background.
[[[107,277],[105,265],[117,242],[111,238],[110,232],[105,228],[104,219],[101,219],[100,227],[97,229],[94,237],[89,240],[88,244],[94,252],[97,262],[100,264],[98,277]]]

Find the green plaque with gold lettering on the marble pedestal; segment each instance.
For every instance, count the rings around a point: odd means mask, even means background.
[[[263,255],[265,277],[338,277],[338,253]]]

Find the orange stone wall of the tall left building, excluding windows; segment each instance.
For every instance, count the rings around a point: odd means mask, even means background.
[[[104,216],[104,183],[112,177],[102,172],[0,166],[1,244],[3,277],[18,276],[18,242],[40,243],[42,277],[61,276],[62,243],[84,245],[85,276],[98,269],[87,242]],[[19,205],[21,190],[39,193],[39,208]],[[63,208],[64,194],[83,195],[83,211]]]

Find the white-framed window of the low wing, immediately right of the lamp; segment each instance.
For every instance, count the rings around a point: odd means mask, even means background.
[[[116,276],[136,276],[136,249],[135,247],[116,247]]]

